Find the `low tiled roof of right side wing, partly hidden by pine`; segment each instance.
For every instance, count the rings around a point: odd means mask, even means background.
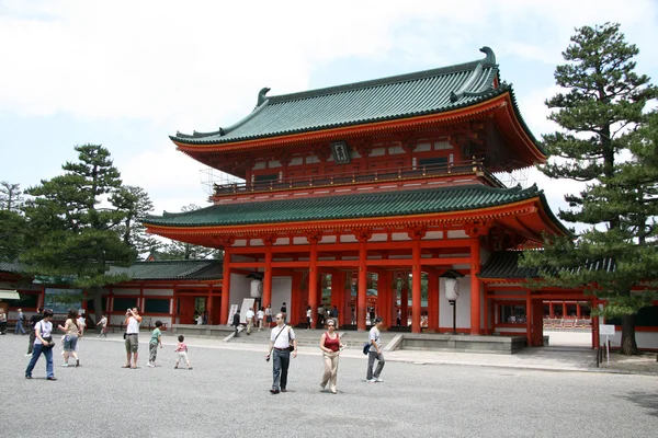
[[[485,266],[483,266],[479,278],[498,279],[498,278],[537,278],[540,269],[536,267],[519,266],[519,257],[522,251],[497,251],[491,254]],[[610,258],[586,263],[582,267],[575,270],[615,270],[615,264]]]

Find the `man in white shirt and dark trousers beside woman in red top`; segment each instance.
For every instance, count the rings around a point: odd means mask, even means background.
[[[270,351],[265,360],[272,360],[272,394],[287,391],[287,370],[291,364],[291,346],[293,358],[297,357],[297,338],[290,325],[286,325],[283,313],[276,314],[276,326],[270,334]]]

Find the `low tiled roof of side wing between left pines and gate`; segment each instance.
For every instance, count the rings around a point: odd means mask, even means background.
[[[133,280],[218,279],[222,263],[216,260],[137,262],[132,266],[110,268],[109,275],[129,275]]]

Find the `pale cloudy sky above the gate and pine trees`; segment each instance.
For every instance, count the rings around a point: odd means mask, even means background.
[[[0,0],[0,181],[61,174],[73,147],[110,150],[154,214],[206,206],[206,172],[168,138],[230,126],[259,90],[286,94],[484,57],[494,49],[533,134],[575,28],[621,23],[658,83],[658,1]],[[570,181],[536,171],[557,214]],[[568,227],[572,226],[566,223]]]

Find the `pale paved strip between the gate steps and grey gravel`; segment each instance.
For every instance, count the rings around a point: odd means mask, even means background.
[[[321,331],[299,331],[298,337],[302,338],[299,346],[300,355],[320,356],[320,350],[309,345],[309,339],[316,337],[319,342]],[[266,353],[266,336],[264,333],[257,336],[240,336],[239,342],[225,343],[217,338],[185,335],[185,342],[189,345],[203,346],[220,349],[252,350]],[[387,333],[388,338],[394,334]],[[350,345],[342,353],[342,357],[363,358],[361,344],[367,339],[366,333],[348,332]],[[422,365],[453,365],[470,367],[496,367],[496,368],[515,368],[526,370],[542,371],[583,371],[583,372],[613,372],[613,373],[633,373],[633,374],[655,374],[658,376],[658,362],[656,354],[643,354],[639,356],[626,357],[612,353],[610,365],[604,360],[597,368],[597,357],[594,350],[587,347],[591,338],[590,334],[570,334],[554,333],[551,334],[558,346],[547,346],[538,348],[524,348],[514,355],[497,355],[480,353],[453,353],[453,351],[430,351],[400,349],[387,351],[385,357],[387,361],[422,364]],[[123,341],[115,335],[117,341]],[[384,337],[384,336],[383,336]],[[362,342],[355,339],[362,338]],[[389,341],[384,338],[384,342]],[[585,339],[585,341],[583,341]],[[140,342],[146,343],[147,337],[141,336]],[[174,336],[164,335],[163,342],[175,342]],[[236,339],[237,341],[237,339]]]

